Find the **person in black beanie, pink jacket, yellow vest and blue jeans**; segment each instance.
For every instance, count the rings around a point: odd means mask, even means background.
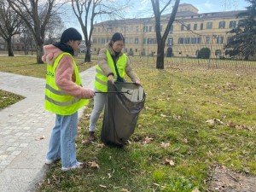
[[[78,133],[78,110],[95,96],[93,90],[82,87],[79,69],[73,59],[82,36],[74,28],[61,35],[61,41],[44,46],[43,61],[47,63],[45,109],[56,114],[55,127],[49,139],[46,165],[61,159],[61,170],[83,166],[76,159],[75,137]]]

